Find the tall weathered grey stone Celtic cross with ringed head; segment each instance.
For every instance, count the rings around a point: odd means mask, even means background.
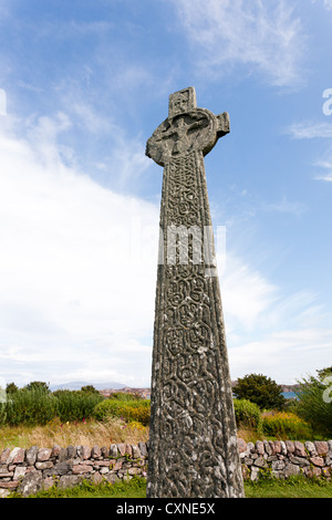
[[[198,108],[188,87],[169,96],[168,117],[147,141],[146,155],[164,166],[148,498],[245,496],[214,239],[204,232],[211,229],[204,156],[227,133],[228,114]]]

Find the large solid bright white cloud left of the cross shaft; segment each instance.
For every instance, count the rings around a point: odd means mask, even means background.
[[[148,384],[159,208],[64,166],[69,124],[0,134],[1,372]]]

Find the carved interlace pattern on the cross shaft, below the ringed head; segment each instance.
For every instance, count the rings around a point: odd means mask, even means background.
[[[201,152],[166,165],[162,205],[164,230],[210,225]],[[242,496],[218,279],[165,262],[156,309],[147,496]]]

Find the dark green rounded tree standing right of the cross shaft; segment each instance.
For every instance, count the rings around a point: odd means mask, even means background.
[[[282,409],[286,404],[282,387],[262,374],[249,374],[239,378],[234,394],[240,399],[257,404],[260,409]]]

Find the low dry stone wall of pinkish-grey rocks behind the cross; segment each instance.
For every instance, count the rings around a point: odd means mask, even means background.
[[[332,477],[332,440],[290,441],[238,439],[245,480],[261,472],[277,478],[292,475]],[[0,497],[18,491],[24,497],[52,486],[68,488],[82,479],[106,480],[146,477],[148,443],[112,444],[110,447],[69,446],[61,448],[7,448],[0,454]]]

